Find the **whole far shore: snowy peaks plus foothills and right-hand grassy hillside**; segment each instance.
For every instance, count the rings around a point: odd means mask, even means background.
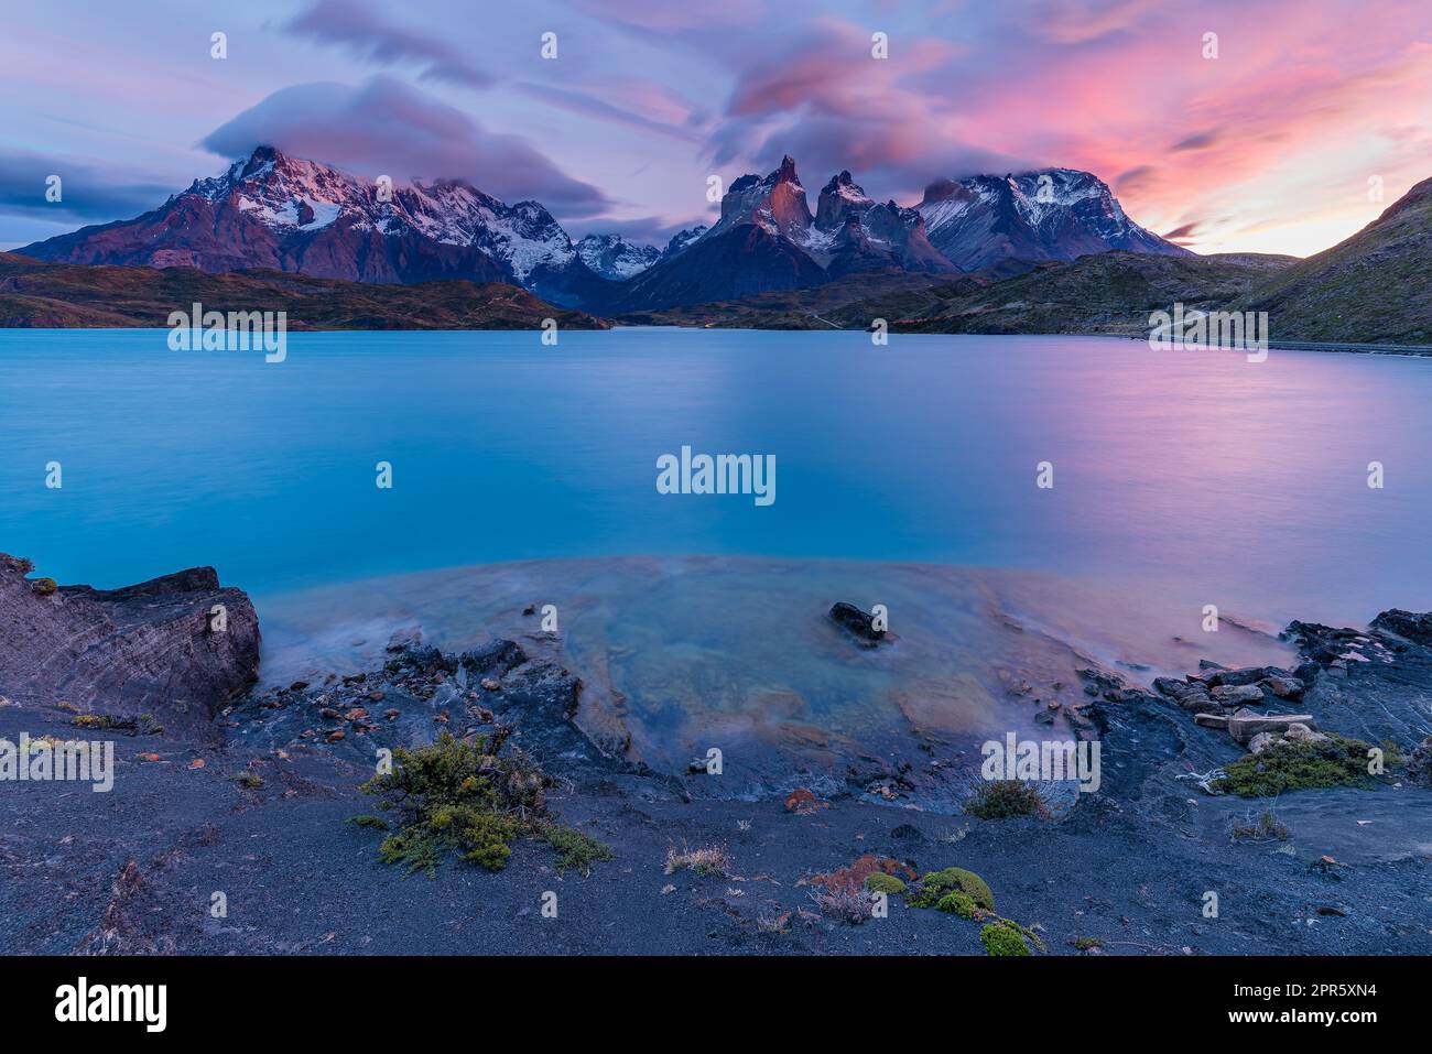
[[[1133,334],[1150,311],[1183,301],[1267,311],[1282,339],[1432,344],[1432,179],[1299,261],[1199,256],[1133,222],[1097,176],[1063,168],[937,180],[914,208],[878,202],[839,172],[812,211],[783,158],[766,176],[732,182],[709,229],[657,248],[614,232],[574,242],[538,202],[507,205],[463,180],[384,193],[259,148],[136,219],[17,253],[0,268],[3,325],[142,325],[180,286],[243,306],[235,298],[281,289],[296,272],[329,282],[292,302],[332,328],[425,328],[420,312],[432,309],[432,325],[464,328],[546,312],[574,325],[603,325],[593,315],[772,328],[885,318],[896,331]],[[126,274],[155,269],[178,276]],[[228,272],[252,282],[202,281]],[[420,289],[385,308],[365,292],[374,285]],[[530,296],[497,292],[511,286]]]

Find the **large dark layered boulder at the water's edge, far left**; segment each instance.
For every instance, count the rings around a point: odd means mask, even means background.
[[[0,554],[0,693],[209,735],[259,669],[259,622],[212,567],[123,589],[36,590],[30,564]]]

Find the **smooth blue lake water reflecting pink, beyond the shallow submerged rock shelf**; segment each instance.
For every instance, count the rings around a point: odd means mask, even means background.
[[[377,574],[669,554],[1048,570],[1273,623],[1432,607],[1423,359],[624,329],[291,334],[266,364],[165,338],[0,331],[0,548],[96,586],[213,564],[261,611]],[[775,504],[659,494],[682,445],[775,455]]]

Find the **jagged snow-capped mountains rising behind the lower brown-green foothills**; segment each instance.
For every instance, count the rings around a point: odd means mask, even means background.
[[[720,219],[664,249],[620,233],[574,242],[534,200],[507,205],[460,179],[385,188],[261,146],[152,212],[19,249],[54,264],[291,271],[354,282],[510,282],[604,314],[806,288],[851,274],[958,274],[1087,252],[1183,253],[1130,221],[1087,172],[942,180],[916,208],[876,202],[841,172],[815,212],[783,158],[729,186]]]

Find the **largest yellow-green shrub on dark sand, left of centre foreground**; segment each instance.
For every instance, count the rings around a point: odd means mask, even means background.
[[[397,818],[397,831],[382,839],[378,858],[407,875],[424,871],[430,878],[447,852],[501,871],[516,839],[541,838],[557,849],[558,866],[590,868],[591,861],[610,859],[599,842],[547,822],[547,779],[520,752],[501,753],[508,735],[500,729],[467,742],[444,732],[430,746],[398,748],[392,772],[359,788]],[[379,816],[352,822],[390,829]]]

